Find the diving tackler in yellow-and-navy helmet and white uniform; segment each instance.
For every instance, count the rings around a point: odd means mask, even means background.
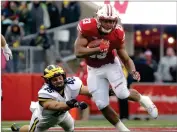
[[[78,77],[66,78],[65,71],[56,65],[47,66],[43,78],[46,83],[38,92],[38,102],[32,102],[30,106],[30,125],[18,128],[13,124],[12,131],[41,132],[59,125],[64,131],[73,132],[74,119],[68,110],[74,107],[87,108],[85,102],[76,100],[79,94],[90,96],[87,87],[82,85]]]

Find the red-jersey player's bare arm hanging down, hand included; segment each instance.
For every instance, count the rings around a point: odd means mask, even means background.
[[[129,73],[132,75],[132,77],[140,81],[140,74],[139,72],[136,71],[135,64],[133,60],[129,57],[126,49],[125,49],[125,44],[122,44],[119,49],[117,49],[117,54],[121,61],[124,63],[126,69],[129,71]]]

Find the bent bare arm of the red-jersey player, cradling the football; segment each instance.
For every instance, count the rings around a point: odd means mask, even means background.
[[[82,36],[82,34],[79,32],[78,37],[74,44],[74,53],[76,57],[83,58],[85,56],[93,55],[95,53],[100,52],[99,47],[95,48],[87,48],[88,40]]]

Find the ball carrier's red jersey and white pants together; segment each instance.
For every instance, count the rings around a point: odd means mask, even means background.
[[[116,26],[109,34],[101,35],[97,28],[97,20],[86,18],[79,22],[78,30],[88,41],[105,39],[110,42],[107,53],[99,53],[85,58],[88,65],[87,84],[97,107],[103,109],[109,104],[109,84],[118,98],[127,98],[130,93],[127,89],[126,79],[119,60],[112,52],[113,49],[119,48],[124,43],[125,33],[122,27]]]

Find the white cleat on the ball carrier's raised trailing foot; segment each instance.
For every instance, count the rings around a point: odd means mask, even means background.
[[[140,104],[152,118],[156,119],[158,117],[158,109],[148,96],[141,96]]]

